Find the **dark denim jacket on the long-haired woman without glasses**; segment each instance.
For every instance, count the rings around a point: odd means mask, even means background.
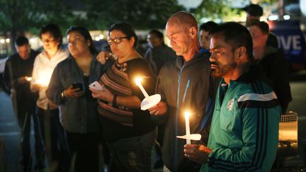
[[[109,63],[102,65],[96,60],[95,56],[93,57],[89,73],[89,84],[99,79],[101,74],[110,66]],[[61,95],[62,91],[74,82],[79,82],[85,86],[83,72],[77,66],[74,57],[69,55],[67,59],[55,67],[46,91],[47,98],[59,105],[60,122],[64,130],[82,134],[98,132],[97,101],[94,98],[86,98],[86,96],[63,98]],[[89,90],[84,88],[84,91]]]

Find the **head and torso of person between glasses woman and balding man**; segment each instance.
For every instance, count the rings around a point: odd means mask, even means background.
[[[149,48],[145,53],[145,61],[149,63],[155,76],[159,74],[162,66],[171,59],[176,59],[176,54],[164,43],[164,35],[159,30],[150,30],[147,35]]]

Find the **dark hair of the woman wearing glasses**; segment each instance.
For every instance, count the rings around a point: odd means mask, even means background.
[[[135,33],[134,28],[132,28],[132,25],[130,25],[128,23],[115,23],[115,24],[111,25],[110,28],[108,28],[108,35],[110,35],[111,31],[113,31],[113,30],[121,31],[122,33],[124,33],[128,37],[128,40],[130,40],[130,38],[134,37],[135,38],[134,47],[137,47],[138,37]]]

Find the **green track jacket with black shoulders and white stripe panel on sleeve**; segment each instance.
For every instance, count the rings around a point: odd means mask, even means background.
[[[212,116],[208,163],[200,171],[270,171],[278,148],[281,108],[260,69],[229,86],[222,79]]]

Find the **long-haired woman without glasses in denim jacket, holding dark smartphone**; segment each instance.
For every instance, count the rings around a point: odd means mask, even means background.
[[[106,65],[96,61],[96,47],[84,27],[67,30],[69,57],[55,67],[47,97],[60,108],[60,121],[67,134],[74,171],[98,171],[98,115],[96,100],[88,90]]]

